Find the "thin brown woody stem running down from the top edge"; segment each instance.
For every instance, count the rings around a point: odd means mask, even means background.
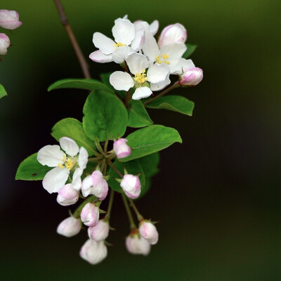
[[[74,48],[74,52],[79,60],[79,64],[81,67],[81,70],[84,74],[85,78],[91,78],[91,74],[89,72],[89,65],[86,62],[86,59],[84,58],[84,55],[81,51],[81,48],[79,47],[79,44],[77,42],[77,39],[75,38],[72,28],[70,27],[70,24],[68,23],[68,20],[65,15],[65,11],[63,11],[63,5],[60,3],[60,0],[54,0],[55,6],[58,9],[58,13],[60,15],[60,20],[65,27],[65,31],[70,39],[70,42],[72,44],[72,47]]]

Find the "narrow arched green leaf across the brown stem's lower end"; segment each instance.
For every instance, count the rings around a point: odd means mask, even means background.
[[[63,79],[56,81],[55,83],[51,84],[48,87],[48,91],[52,91],[55,89],[84,89],[84,90],[103,90],[103,91],[110,91],[112,89],[107,87],[102,82],[95,80],[95,79]]]

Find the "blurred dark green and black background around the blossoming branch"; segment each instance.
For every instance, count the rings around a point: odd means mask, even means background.
[[[88,58],[93,32],[111,37],[114,20],[159,20],[160,31],[181,22],[204,79],[174,93],[195,102],[193,117],[150,110],[155,124],[173,126],[183,144],[161,152],[160,173],[139,202],[157,224],[159,243],[149,256],[124,247],[129,224],[122,201],[113,206],[107,259],[79,258],[86,231],[55,233],[67,217],[41,182],[15,181],[18,164],[47,144],[51,127],[82,118],[87,92],[47,87],[82,77],[53,1],[1,0],[23,25],[0,63],[1,280],[281,280],[279,0],[93,1],[62,0]],[[1,29],[0,32],[7,32]],[[117,70],[91,60],[92,77]]]

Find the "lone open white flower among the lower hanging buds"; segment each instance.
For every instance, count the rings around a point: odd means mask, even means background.
[[[63,150],[60,150],[62,148]],[[77,156],[79,154],[79,156]],[[59,145],[46,145],[39,150],[37,160],[40,164],[55,167],[48,171],[43,179],[43,187],[49,192],[58,192],[63,188],[70,171],[74,172],[72,186],[81,188],[81,174],[88,162],[88,152],[79,146],[71,138],[60,138]]]

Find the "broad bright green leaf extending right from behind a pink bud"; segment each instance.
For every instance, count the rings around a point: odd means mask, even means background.
[[[122,162],[141,158],[159,150],[163,150],[173,143],[182,143],[178,131],[162,125],[152,125],[139,129],[126,137],[131,148],[131,155],[119,159]]]

